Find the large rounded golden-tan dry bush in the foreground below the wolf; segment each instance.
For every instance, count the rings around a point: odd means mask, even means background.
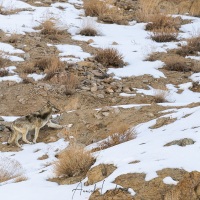
[[[86,174],[94,164],[95,158],[79,145],[72,145],[62,151],[54,165],[58,177],[73,177]]]

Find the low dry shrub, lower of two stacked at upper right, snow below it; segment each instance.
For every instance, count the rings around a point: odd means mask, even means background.
[[[176,41],[177,36],[178,36],[178,31],[174,28],[154,29],[150,33],[151,39],[156,41],[156,42]]]

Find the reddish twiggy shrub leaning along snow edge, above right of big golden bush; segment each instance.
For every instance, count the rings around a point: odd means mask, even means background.
[[[109,137],[101,142],[100,149],[106,149],[129,140],[132,140],[136,137],[136,132],[131,130],[127,124],[117,125],[109,133]]]

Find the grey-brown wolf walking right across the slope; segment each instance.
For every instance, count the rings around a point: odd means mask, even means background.
[[[52,114],[58,112],[60,110],[48,101],[39,111],[16,119],[9,128],[11,134],[7,144],[9,145],[15,141],[15,144],[21,148],[18,142],[20,138],[27,144],[36,143],[40,129],[46,124],[52,128],[63,128],[63,126],[54,124],[50,120]],[[27,134],[31,130],[35,130],[33,142],[27,140]]]

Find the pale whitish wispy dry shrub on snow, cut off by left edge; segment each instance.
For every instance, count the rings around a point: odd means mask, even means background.
[[[10,158],[0,158],[0,183],[22,176],[20,163]]]

